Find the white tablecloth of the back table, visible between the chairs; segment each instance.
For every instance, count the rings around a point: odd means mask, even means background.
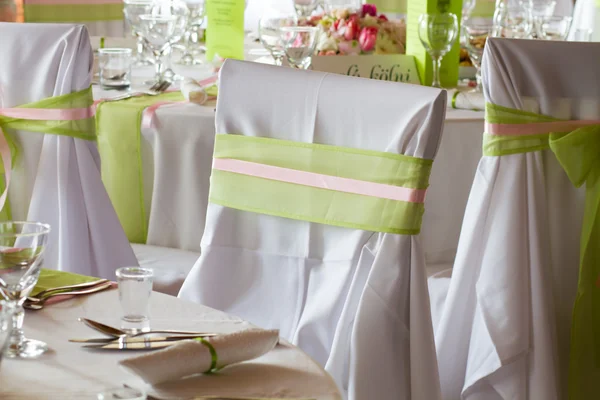
[[[207,66],[175,66],[175,70],[198,79],[210,74]],[[94,87],[96,99],[117,94]],[[145,203],[150,210],[148,244],[200,251],[215,135],[214,108],[214,103],[167,105],[157,110],[155,127],[142,130]],[[448,110],[422,229],[428,264],[447,265],[454,259],[481,158],[482,132],[483,112]]]

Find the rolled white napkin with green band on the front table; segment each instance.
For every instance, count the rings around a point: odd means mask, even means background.
[[[271,351],[278,341],[278,330],[250,329],[204,342],[184,340],[163,350],[122,360],[120,364],[155,385],[252,360]]]

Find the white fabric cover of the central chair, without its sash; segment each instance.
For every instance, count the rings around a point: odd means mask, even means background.
[[[227,61],[216,132],[432,159],[445,100],[421,86]],[[280,329],[349,399],[439,398],[417,236],[209,204],[201,248],[180,297]]]

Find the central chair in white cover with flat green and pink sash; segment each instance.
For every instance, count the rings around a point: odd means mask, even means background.
[[[349,399],[439,398],[417,234],[445,107],[437,89],[226,61],[179,296],[279,329]],[[419,194],[380,192],[400,186]]]

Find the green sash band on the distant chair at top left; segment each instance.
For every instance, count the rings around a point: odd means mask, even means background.
[[[25,22],[122,21],[123,4],[26,4]]]

